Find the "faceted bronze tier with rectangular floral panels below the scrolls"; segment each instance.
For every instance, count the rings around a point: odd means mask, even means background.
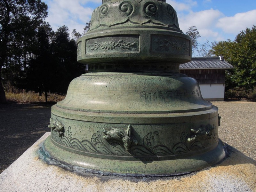
[[[151,34],[148,34],[148,30],[145,26],[131,28],[129,31],[127,29],[118,30],[116,33],[114,33],[115,30],[111,33],[104,31],[100,36],[88,32],[78,40],[77,61],[89,64],[89,67],[92,64],[100,65],[99,69],[94,67],[90,69],[94,72],[103,69],[102,64],[108,66],[104,67],[106,71],[125,71],[126,67],[123,69],[118,67],[116,70],[116,67],[110,69],[109,65],[120,63],[127,66],[126,64],[129,64],[130,61],[132,61],[130,62],[132,65],[140,62],[140,71],[168,72],[175,70],[178,72],[179,64],[191,59],[188,36],[170,30],[150,30]],[[144,68],[146,65],[151,66]],[[166,68],[164,65],[173,65],[173,67]]]

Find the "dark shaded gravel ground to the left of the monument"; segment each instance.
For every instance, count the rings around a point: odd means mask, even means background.
[[[49,132],[53,104],[0,104],[0,173]]]

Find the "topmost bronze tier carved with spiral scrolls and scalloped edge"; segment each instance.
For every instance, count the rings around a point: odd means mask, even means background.
[[[152,0],[128,2],[120,0],[115,3],[106,1],[96,8],[92,13],[90,30],[100,26],[122,25],[129,21],[133,25],[153,23],[155,25],[180,29],[176,11],[165,2]]]

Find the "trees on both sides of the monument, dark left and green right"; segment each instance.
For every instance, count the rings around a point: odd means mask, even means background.
[[[47,101],[48,92],[66,94],[70,81],[84,73],[85,66],[76,62],[76,40],[89,30],[90,21],[82,34],[73,29],[70,38],[67,26],[54,32],[45,22],[47,9],[41,0],[0,0],[0,103],[6,101],[10,86],[44,93]],[[196,26],[188,28],[186,34],[200,56],[221,55],[234,66],[226,71],[226,92],[239,90],[255,95],[255,25],[241,31],[234,41],[206,40],[198,45]]]

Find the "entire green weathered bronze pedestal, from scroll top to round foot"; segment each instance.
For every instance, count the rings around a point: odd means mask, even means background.
[[[84,171],[175,175],[224,158],[218,108],[179,73],[191,40],[165,1],[105,0],[78,39],[89,72],[52,106],[45,153]]]

